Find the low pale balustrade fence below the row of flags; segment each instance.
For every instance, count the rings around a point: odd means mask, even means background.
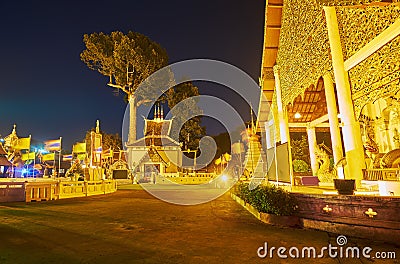
[[[114,180],[0,182],[0,202],[49,201],[112,193]]]

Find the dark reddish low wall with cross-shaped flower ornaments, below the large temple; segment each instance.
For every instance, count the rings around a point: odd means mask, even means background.
[[[294,193],[302,226],[400,245],[400,198]]]

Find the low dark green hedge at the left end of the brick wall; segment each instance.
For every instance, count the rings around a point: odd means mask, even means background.
[[[296,198],[275,185],[259,185],[249,190],[249,184],[240,183],[234,193],[262,213],[293,215],[298,208]]]

